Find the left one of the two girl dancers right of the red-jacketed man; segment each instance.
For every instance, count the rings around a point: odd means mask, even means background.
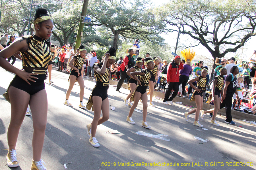
[[[196,78],[193,78],[191,80],[188,81],[188,84],[195,89],[190,101],[195,101],[197,108],[193,109],[192,111],[189,112],[185,112],[185,120],[186,122],[188,122],[188,117],[189,114],[195,113],[195,122],[193,125],[198,126],[198,127],[203,127],[203,125],[201,125],[198,121],[199,118],[199,113],[200,110],[203,108],[203,92],[206,91],[206,75],[208,74],[208,67],[203,67],[202,68],[202,72],[201,72],[201,76],[197,76]],[[195,87],[192,83],[193,82],[197,82],[197,87]]]

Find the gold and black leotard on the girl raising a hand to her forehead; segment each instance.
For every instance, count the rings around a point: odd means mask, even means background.
[[[95,65],[99,66],[100,68],[102,67],[103,63],[95,63],[92,68],[94,68]],[[105,98],[108,97],[108,86],[109,86],[109,75],[110,75],[110,68],[106,68],[105,74],[101,75],[99,73],[96,72],[96,70],[94,69],[94,74],[96,76],[96,85],[94,86],[94,88],[92,89],[92,93],[88,99],[88,102],[86,104],[86,109],[88,110],[93,110],[93,101],[92,101],[92,95],[96,95],[97,96],[102,96]],[[95,92],[94,92],[95,90]],[[96,93],[96,94],[95,94]],[[99,95],[100,94],[100,95]],[[105,99],[103,98],[102,101]]]

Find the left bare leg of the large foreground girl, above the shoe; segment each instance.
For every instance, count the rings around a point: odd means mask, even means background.
[[[9,96],[11,102],[11,121],[7,130],[7,141],[9,149],[15,150],[20,126],[25,117],[30,95],[23,90],[10,86]]]

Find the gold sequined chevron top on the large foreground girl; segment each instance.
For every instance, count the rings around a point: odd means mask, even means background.
[[[22,66],[47,68],[51,59],[50,47],[46,40],[38,41],[31,35],[22,36],[27,39],[28,50],[21,52]]]

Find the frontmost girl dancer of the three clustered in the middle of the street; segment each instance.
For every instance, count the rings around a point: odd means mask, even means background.
[[[142,121],[142,127],[144,128],[151,128],[147,122],[146,122],[146,117],[147,117],[147,109],[148,109],[148,96],[147,96],[147,87],[149,85],[150,78],[152,77],[152,72],[151,70],[154,69],[154,62],[150,57],[144,58],[144,65],[146,66],[146,69],[143,69],[141,72],[132,72],[131,76],[135,80],[137,80],[138,85],[136,86],[132,96],[131,100],[133,101],[133,105],[129,111],[129,115],[126,118],[126,121],[130,124],[135,124],[133,119],[131,118],[134,109],[137,107],[139,100],[142,100],[142,105],[143,105],[143,121]],[[135,76],[135,75],[140,75],[140,80]]]

